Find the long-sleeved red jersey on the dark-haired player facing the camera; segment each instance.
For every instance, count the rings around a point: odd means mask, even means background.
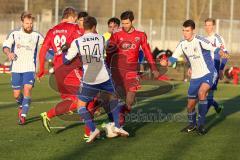
[[[112,34],[108,44],[110,46],[116,46],[117,51],[115,53],[121,55],[121,58],[119,58],[119,56],[118,58],[114,58],[115,61],[113,63],[114,65],[119,64],[119,69],[137,71],[139,49],[141,46],[147,61],[150,63],[152,71],[157,70],[150,46],[147,42],[147,36],[144,32],[134,29],[131,33],[128,33],[123,29],[119,29],[117,32]],[[113,60],[113,55],[114,53],[107,51],[106,61],[108,64],[110,64]],[[123,61],[123,59],[125,59],[125,61]]]

